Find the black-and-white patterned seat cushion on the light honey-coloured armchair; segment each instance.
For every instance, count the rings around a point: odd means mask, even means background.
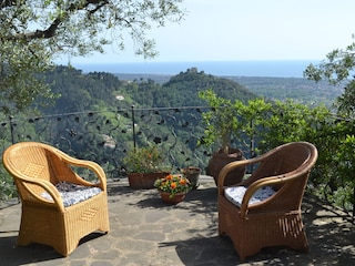
[[[62,197],[64,207],[83,202],[101,192],[100,187],[82,186],[68,182],[59,182],[55,184],[55,187]],[[51,195],[47,192],[43,192],[41,196],[45,200],[53,201]]]

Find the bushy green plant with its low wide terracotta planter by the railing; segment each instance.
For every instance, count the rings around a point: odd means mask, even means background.
[[[170,174],[165,157],[156,145],[130,150],[123,158],[130,187],[154,188],[158,178]]]

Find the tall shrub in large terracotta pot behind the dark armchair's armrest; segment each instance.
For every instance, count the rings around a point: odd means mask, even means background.
[[[220,171],[233,161],[245,160],[240,149],[231,146],[232,134],[237,135],[243,124],[237,119],[237,106],[242,103],[217,96],[212,90],[201,91],[199,96],[211,106],[210,111],[203,112],[202,117],[206,123],[205,135],[199,144],[220,144],[220,149],[212,153],[206,167],[206,174],[213,176],[217,185]],[[225,185],[236,184],[242,181],[245,168],[231,172],[225,178]]]

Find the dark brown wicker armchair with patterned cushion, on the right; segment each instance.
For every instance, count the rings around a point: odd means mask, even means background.
[[[219,234],[229,235],[242,260],[263,247],[308,250],[301,203],[316,160],[313,144],[295,142],[258,157],[230,163],[221,171]],[[223,185],[230,171],[247,165],[256,165],[250,177],[234,187]]]

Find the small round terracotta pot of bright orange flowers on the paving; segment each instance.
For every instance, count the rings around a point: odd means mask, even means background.
[[[169,174],[163,178],[155,181],[154,186],[159,191],[161,198],[171,204],[176,204],[185,198],[191,191],[191,182],[180,174]]]

